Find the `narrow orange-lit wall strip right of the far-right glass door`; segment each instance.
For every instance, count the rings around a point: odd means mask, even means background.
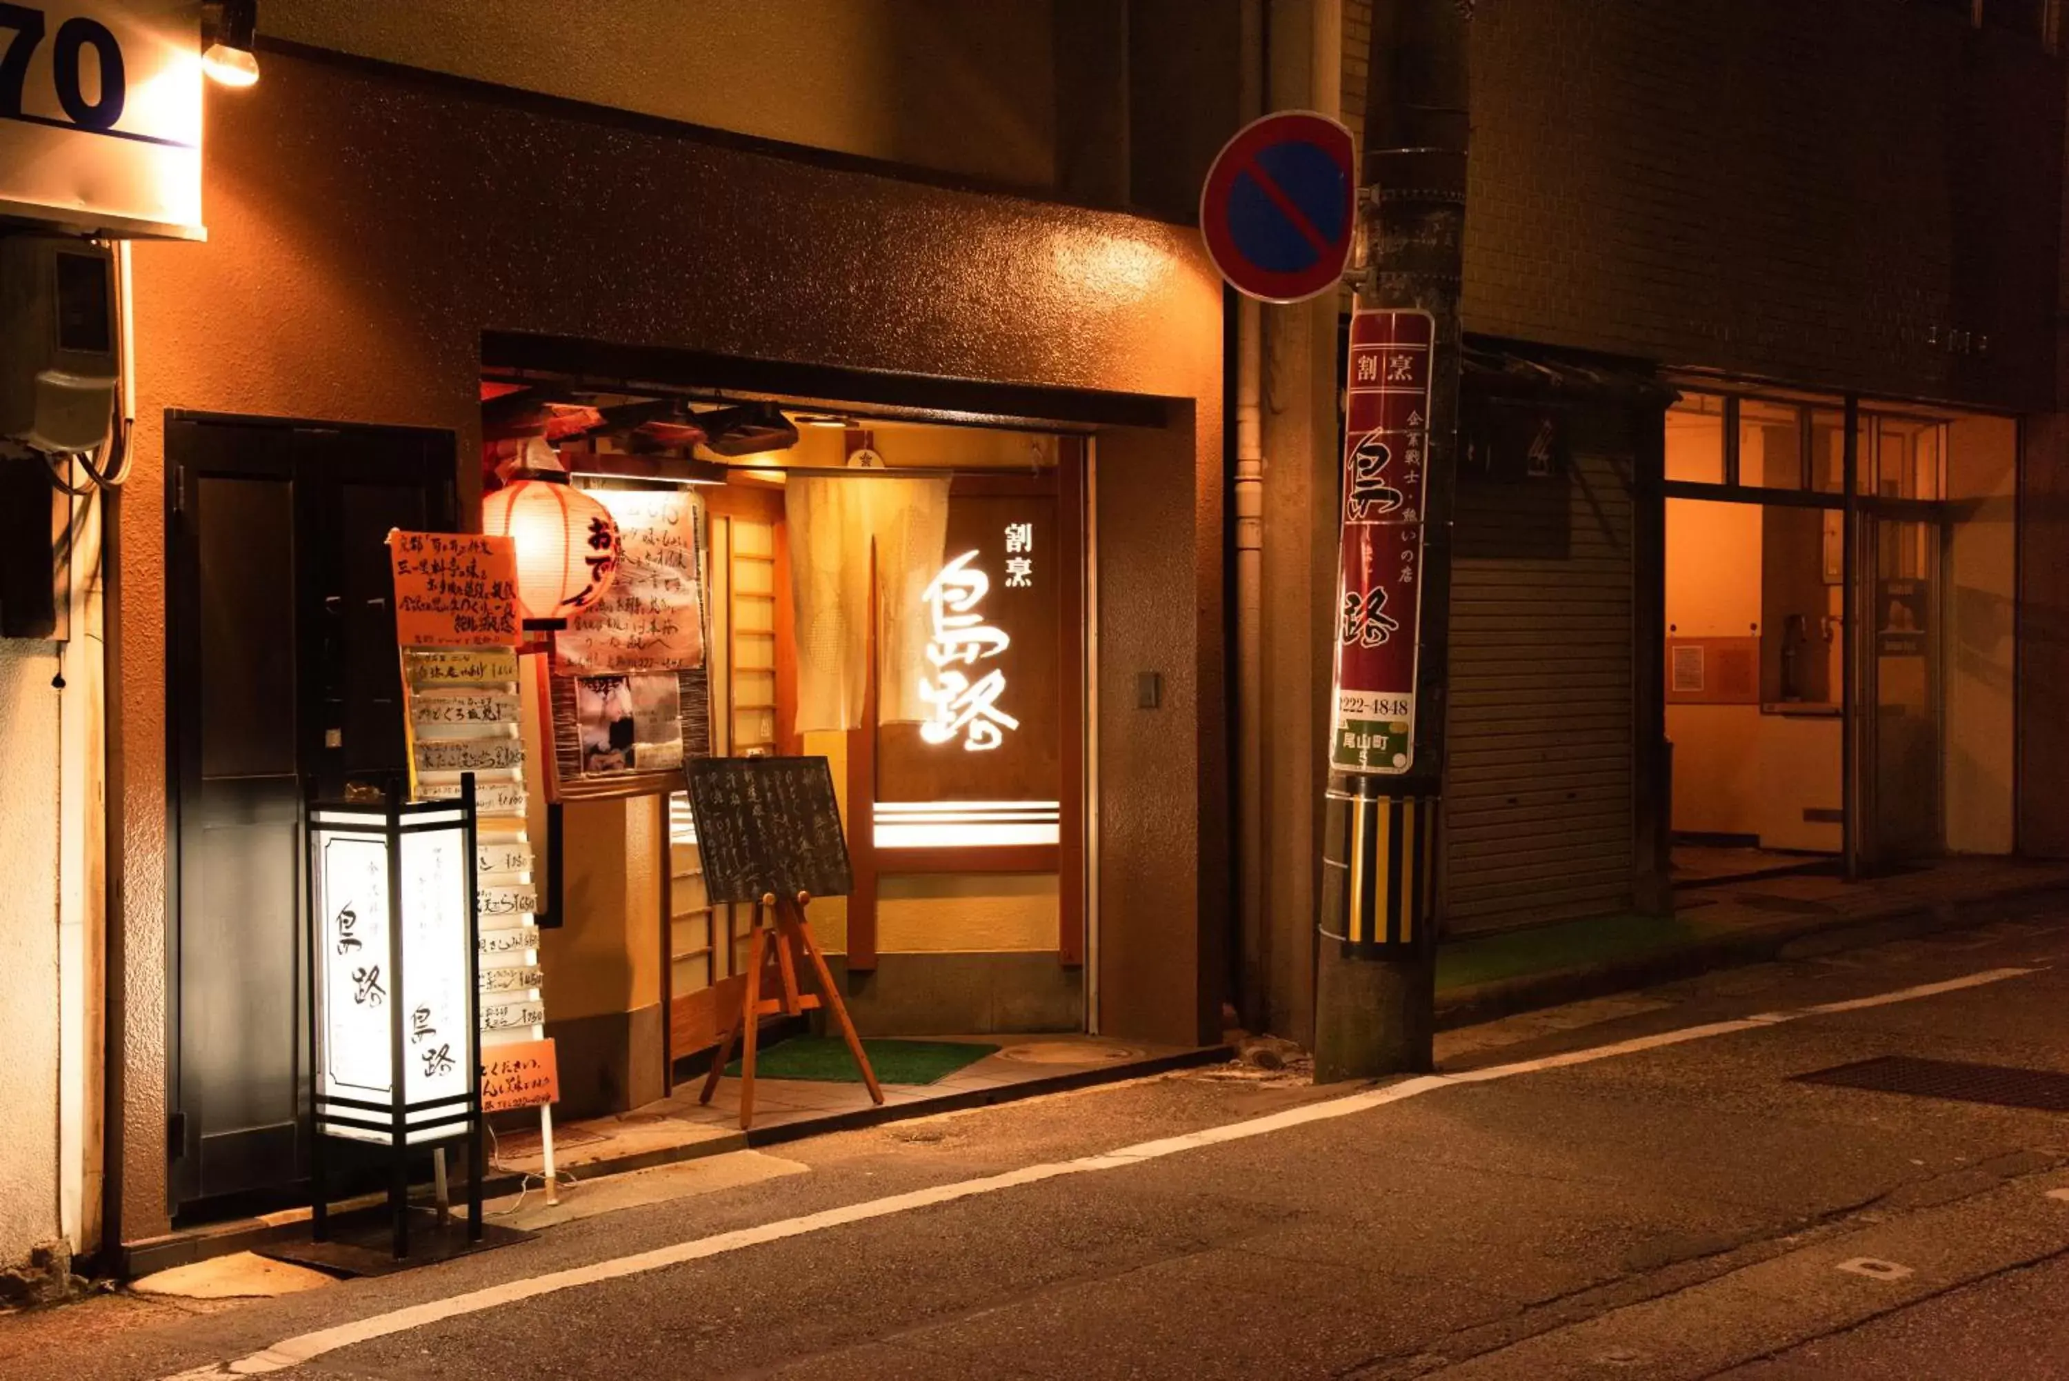
[[[2011,853],[2019,429],[2009,418],[1966,418],[1947,433],[1947,493],[1959,501],[1953,584],[1941,600],[1947,851]],[[2057,704],[2036,710],[2052,714]]]

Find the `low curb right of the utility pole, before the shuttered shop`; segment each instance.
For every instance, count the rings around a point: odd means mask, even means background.
[[[1769,963],[1775,959],[1812,959],[1839,950],[1916,940],[1947,930],[1968,930],[2007,919],[2015,909],[2044,901],[2069,901],[2069,884],[2059,880],[2032,882],[1959,901],[1930,901],[1891,907],[1889,911],[1854,917],[1817,917],[1777,921],[1736,936],[1717,936],[1699,944],[1653,950],[1599,965],[1552,969],[1455,988],[1436,998],[1436,1029],[1452,1031],[1498,1017],[1535,1012],[1566,1002],[1606,998],[1618,992],[1701,977],[1717,969]]]

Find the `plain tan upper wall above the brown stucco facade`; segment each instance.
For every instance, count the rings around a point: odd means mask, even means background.
[[[997,182],[1055,184],[1051,0],[267,0],[269,37]]]

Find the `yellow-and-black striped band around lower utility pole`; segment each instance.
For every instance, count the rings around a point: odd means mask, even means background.
[[[1345,954],[1405,959],[1436,936],[1438,797],[1330,793],[1349,816],[1341,859]],[[1324,930],[1324,934],[1328,934]]]

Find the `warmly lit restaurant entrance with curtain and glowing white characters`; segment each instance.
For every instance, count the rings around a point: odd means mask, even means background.
[[[627,704],[654,700],[637,648],[569,646],[623,611],[579,615],[528,658],[544,667],[540,704],[575,706],[538,721],[552,739],[540,810],[559,824],[534,830],[557,841],[542,965],[563,1110],[598,1101],[592,1029],[623,1021],[627,1073],[606,1075],[623,1079],[612,1101],[641,1106],[701,1073],[745,994],[755,909],[706,897],[681,774],[646,770],[670,752],[828,760],[854,886],[813,899],[809,921],[861,1033],[896,1041],[886,1060],[912,1041],[964,1041],[983,1060],[1084,1033],[1090,439],[695,379],[666,389],[490,366],[482,398],[484,489],[509,458],[552,447],[569,484],[614,516],[621,559],[637,559],[646,538],[627,534],[656,505],[693,547],[697,590],[681,613],[699,625],[695,669],[660,673],[683,706],[674,747],[633,727],[621,760],[581,737],[579,706],[606,704],[606,683]],[[643,843],[623,843],[646,828],[660,876]],[[604,965],[606,948],[625,959]],[[612,971],[629,983],[606,988]],[[770,1037],[801,1027],[776,1023]]]

